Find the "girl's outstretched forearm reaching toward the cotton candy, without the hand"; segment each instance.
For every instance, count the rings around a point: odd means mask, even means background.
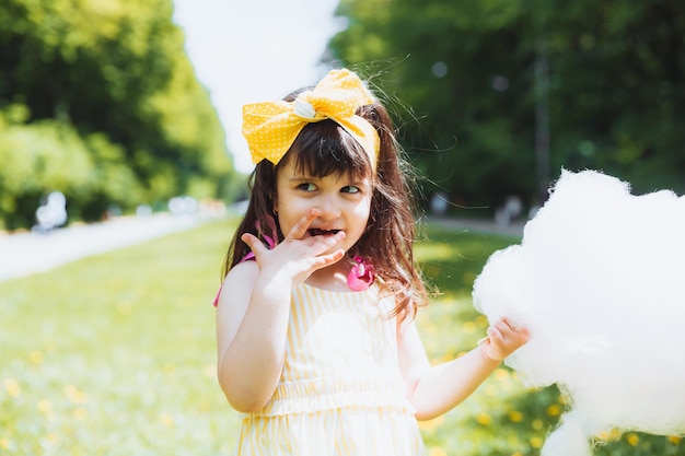
[[[480,347],[446,363],[427,369],[409,400],[418,420],[430,420],[460,405],[500,365]]]

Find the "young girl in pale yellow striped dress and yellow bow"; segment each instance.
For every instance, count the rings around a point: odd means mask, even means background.
[[[239,455],[423,454],[416,420],[464,400],[527,331],[502,319],[429,364],[407,179],[355,73],[243,114],[256,168],[216,303],[219,383],[246,413]]]

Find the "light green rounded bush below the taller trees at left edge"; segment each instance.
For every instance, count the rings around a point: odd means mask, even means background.
[[[143,201],[121,148],[100,133],[82,137],[69,124],[0,122],[0,227],[31,226],[54,190],[68,195],[72,220],[100,220],[114,201],[126,209]]]

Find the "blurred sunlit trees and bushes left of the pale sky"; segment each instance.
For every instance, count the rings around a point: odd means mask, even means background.
[[[172,22],[172,0],[5,0],[0,10],[0,128],[14,141],[2,142],[0,166],[11,160],[34,176],[21,188],[0,180],[2,200],[14,200],[4,206],[13,212],[0,204],[5,224],[31,219],[36,196],[54,189],[85,219],[112,203],[230,197],[236,173],[224,131]],[[61,156],[69,184],[40,177],[34,141],[45,167],[60,161],[60,144],[79,151]],[[77,155],[88,159],[83,175],[71,165]]]

